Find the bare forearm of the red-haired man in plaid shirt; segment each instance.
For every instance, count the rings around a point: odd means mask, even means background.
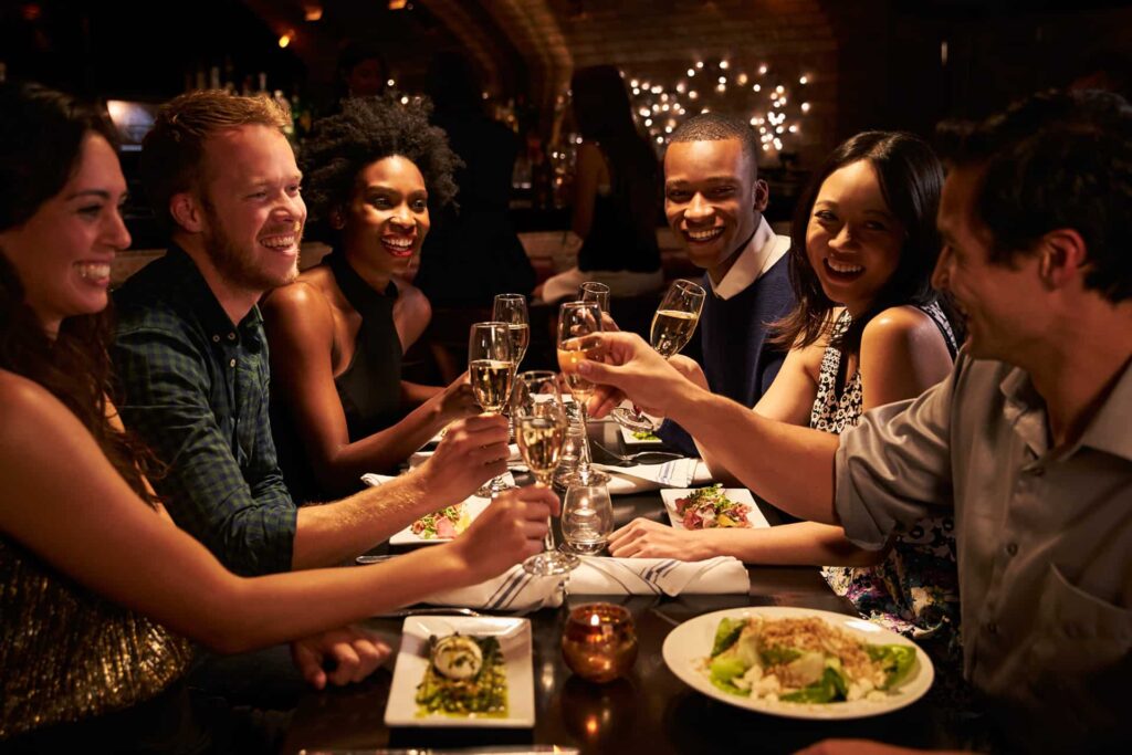
[[[334,566],[388,540],[413,520],[452,501],[429,500],[411,471],[344,500],[299,509],[291,567]]]

